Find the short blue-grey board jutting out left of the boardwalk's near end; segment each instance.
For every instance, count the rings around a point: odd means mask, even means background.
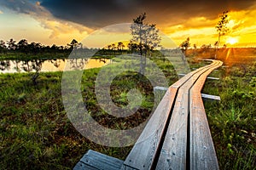
[[[117,158],[106,156],[93,150],[88,150],[73,169],[119,170],[123,163],[124,161]]]

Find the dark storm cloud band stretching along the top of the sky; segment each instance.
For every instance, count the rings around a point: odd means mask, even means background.
[[[138,14],[146,12],[150,22],[158,25],[183,23],[189,17],[217,18],[224,10],[250,8],[253,0],[43,0],[41,5],[55,17],[90,27],[101,27],[121,22],[131,22]]]

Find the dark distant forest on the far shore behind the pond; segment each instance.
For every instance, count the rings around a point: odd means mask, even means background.
[[[9,41],[0,40],[0,59],[67,59],[73,49],[77,51],[96,52],[97,55],[112,55],[128,53],[134,45],[128,44],[125,48],[123,42],[112,43],[104,48],[86,48],[82,42],[73,39],[66,46],[45,46],[40,42],[28,42],[26,39],[21,39],[16,42],[13,38]],[[106,56],[109,58],[109,56]]]

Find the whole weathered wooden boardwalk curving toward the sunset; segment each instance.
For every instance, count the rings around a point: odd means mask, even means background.
[[[103,168],[85,169],[218,169],[201,89],[207,76],[222,64],[212,60],[211,65],[189,72],[172,84],[125,161],[118,164],[107,156],[105,167],[101,159],[96,159]],[[107,158],[102,160],[106,162]],[[81,169],[82,164],[83,158],[74,169]],[[115,164],[115,168],[109,164]]]

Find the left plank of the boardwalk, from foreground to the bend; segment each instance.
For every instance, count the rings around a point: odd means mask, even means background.
[[[143,129],[143,133],[137,139],[137,143],[125,159],[122,169],[150,169],[152,167],[176,93],[177,88],[168,89]]]

